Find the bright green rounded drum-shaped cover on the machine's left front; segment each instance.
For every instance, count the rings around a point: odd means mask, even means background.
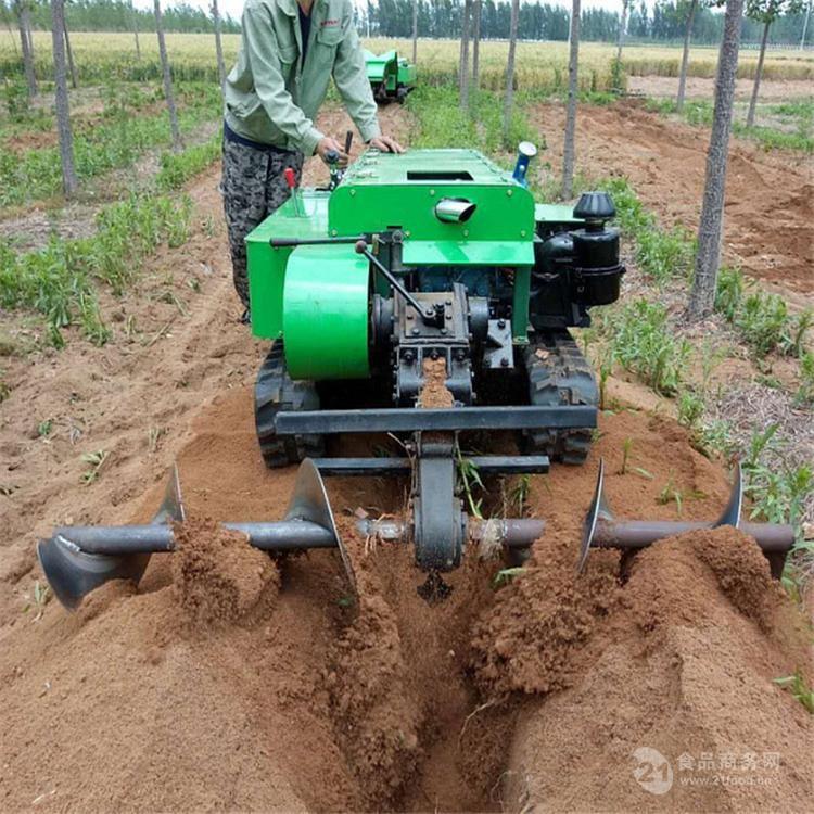
[[[364,379],[368,365],[367,258],[352,245],[300,246],[282,297],[285,365],[293,379]]]

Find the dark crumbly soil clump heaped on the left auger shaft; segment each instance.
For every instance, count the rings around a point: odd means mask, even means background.
[[[173,586],[193,625],[233,622],[280,585],[274,562],[246,536],[214,520],[191,520],[175,529]]]

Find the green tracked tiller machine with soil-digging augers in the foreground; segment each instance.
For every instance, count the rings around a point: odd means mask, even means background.
[[[353,582],[322,478],[391,475],[409,479],[405,516],[364,518],[358,530],[414,546],[425,598],[445,596],[441,575],[470,548],[513,562],[527,554],[544,521],[469,516],[461,467],[522,474],[585,462],[598,390],[569,329],[613,303],[625,272],[610,196],[535,203],[525,185],[535,152],[521,144],[512,174],[473,150],[369,150],[344,176],[334,169],[330,188],[294,189],[249,236],[252,330],[272,341],[255,385],[259,451],[300,472],[283,520],[227,527],[272,554],[338,547]],[[513,436],[503,446],[517,453],[472,453],[496,433]],[[329,455],[346,434],[390,434],[403,454]],[[714,523],[618,521],[600,463],[580,565],[592,547],[740,525],[741,505],[737,472]],[[110,578],[138,581],[151,554],[174,549],[170,521],[182,517],[174,472],[151,524],[55,530],[39,546],[54,593],[75,607]],[[779,575],[792,530],[743,527]]]

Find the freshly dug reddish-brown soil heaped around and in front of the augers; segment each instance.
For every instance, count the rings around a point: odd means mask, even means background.
[[[282,516],[294,472],[258,461],[247,391],[216,398],[192,430],[179,456],[190,517]],[[709,496],[687,501],[687,517],[717,512],[726,484],[682,430],[626,411],[602,432],[611,505],[675,517],[656,504],[658,483],[615,474],[635,435],[637,463]],[[400,485],[346,479],[329,488],[356,597],[335,552],[278,571],[240,535],[193,520],[138,590],[112,583],[77,614],[51,602],[38,622],[7,620],[0,805],[663,805],[632,774],[645,746],[672,762],[678,807],[801,807],[810,718],[772,678],[805,652],[762,556],[717,531],[656,546],[624,574],[618,555],[594,552],[577,580],[594,476],[589,463],[533,479],[549,529],[526,572],[495,589],[500,563],[470,557],[442,605],[417,595],[411,551],[352,532],[371,495],[399,511]],[[156,487],[136,516],[158,499]],[[678,785],[681,753],[747,748],[780,753],[774,786]]]

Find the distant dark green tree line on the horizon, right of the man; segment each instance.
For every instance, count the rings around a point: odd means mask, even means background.
[[[472,0],[476,2],[476,0]],[[620,3],[622,5],[622,3]],[[724,28],[724,14],[716,0],[657,0],[649,9],[645,0],[625,2],[624,9],[583,9],[580,13],[580,39],[615,42],[620,30],[627,40],[676,42],[684,38],[691,13],[691,38],[698,44],[716,44]],[[368,35],[383,37],[458,38],[462,35],[467,0],[368,0],[358,11],[359,27]],[[482,39],[509,39],[511,0],[481,0],[479,17]],[[770,34],[771,44],[799,44],[805,22],[802,3],[786,8],[776,16]],[[523,2],[518,7],[518,36],[525,40],[567,40],[571,14],[557,3]],[[621,26],[621,28],[620,28]],[[748,14],[741,21],[741,39],[760,42],[763,24]],[[812,35],[814,37],[814,35]]]

